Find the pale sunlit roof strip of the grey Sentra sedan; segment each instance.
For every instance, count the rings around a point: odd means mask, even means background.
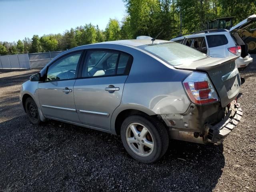
[[[167,43],[170,41],[166,40],[154,40],[154,44],[158,43]],[[120,44],[120,45],[127,45],[127,46],[142,46],[142,45],[148,45],[152,44],[152,40],[149,39],[129,39],[129,40],[117,40],[117,41],[106,41],[106,42],[100,42],[96,44]]]

